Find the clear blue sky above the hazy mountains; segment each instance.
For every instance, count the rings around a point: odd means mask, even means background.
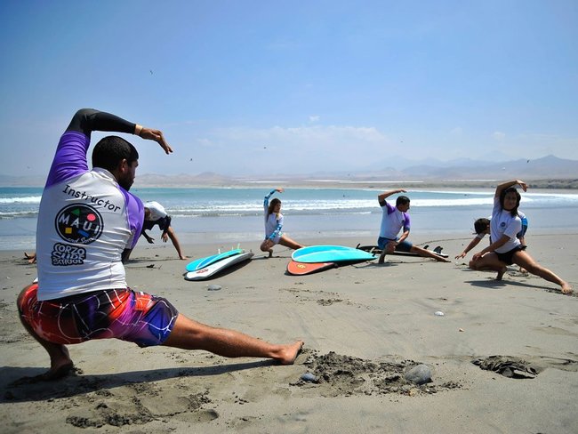
[[[578,2],[0,2],[0,174],[76,109],[163,130],[139,173],[578,159]],[[94,134],[92,144],[102,137]]]

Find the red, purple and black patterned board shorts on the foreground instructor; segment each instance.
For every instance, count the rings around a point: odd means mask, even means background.
[[[160,345],[179,315],[165,298],[130,288],[45,301],[38,301],[37,292],[34,284],[20,294],[20,317],[38,336],[53,343],[116,338],[140,347]]]

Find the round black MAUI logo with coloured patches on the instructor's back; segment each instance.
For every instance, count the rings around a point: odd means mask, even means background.
[[[68,243],[87,245],[102,234],[102,217],[92,206],[68,205],[56,216],[56,231]]]

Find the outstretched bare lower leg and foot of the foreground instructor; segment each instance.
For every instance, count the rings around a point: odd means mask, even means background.
[[[164,345],[211,351],[226,358],[272,358],[282,365],[292,365],[303,342],[277,345],[235,330],[204,325],[179,314]]]

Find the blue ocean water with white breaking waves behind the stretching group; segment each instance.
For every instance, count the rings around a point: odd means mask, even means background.
[[[263,197],[268,189],[138,189],[143,201],[156,200],[173,216],[182,243],[237,244],[264,237]],[[381,208],[378,189],[287,189],[284,231],[305,237],[377,237]],[[34,249],[42,189],[0,188],[0,250]],[[469,237],[473,221],[492,212],[494,191],[409,190],[412,235],[428,239],[452,232]],[[390,197],[395,201],[397,195]],[[523,193],[520,210],[533,232],[578,231],[578,194]],[[153,237],[155,231],[153,229]]]

